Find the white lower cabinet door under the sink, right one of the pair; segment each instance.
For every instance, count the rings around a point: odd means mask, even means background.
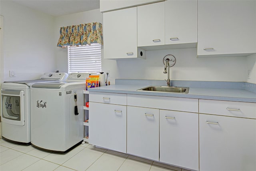
[[[159,161],[198,171],[198,113],[160,110],[159,119]]]

